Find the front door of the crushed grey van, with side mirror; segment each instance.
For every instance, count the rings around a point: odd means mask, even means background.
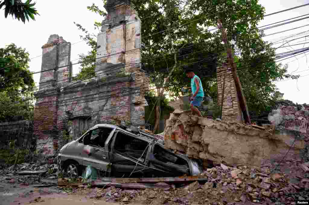
[[[99,127],[89,132],[90,144],[84,148],[87,153],[87,157],[84,158],[84,165],[108,171],[110,158],[106,141],[112,130],[112,128]]]

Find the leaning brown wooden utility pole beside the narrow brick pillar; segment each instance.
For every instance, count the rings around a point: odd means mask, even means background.
[[[246,98],[243,95],[241,83],[240,83],[239,77],[238,77],[237,72],[236,72],[236,66],[235,66],[235,63],[234,63],[234,58],[233,58],[233,55],[232,55],[230,45],[227,41],[226,31],[222,27],[222,23],[221,23],[220,19],[218,19],[217,23],[218,23],[218,28],[221,30],[222,40],[223,40],[224,45],[226,47],[227,60],[228,60],[229,64],[231,65],[231,69],[232,69],[231,71],[232,71],[233,78],[234,78],[234,81],[235,81],[235,87],[236,87],[236,92],[237,92],[237,96],[238,96],[238,100],[239,100],[240,109],[243,113],[243,118],[244,118],[245,122],[249,123],[251,125],[251,120],[250,120],[250,115],[249,115],[249,112],[248,112]]]

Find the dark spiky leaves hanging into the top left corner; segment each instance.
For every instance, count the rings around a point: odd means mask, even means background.
[[[26,19],[29,22],[29,17],[35,21],[34,15],[40,15],[38,14],[36,8],[33,6],[36,5],[36,2],[31,4],[32,0],[27,0],[25,3],[23,3],[21,0],[3,0],[0,1],[0,9],[4,6],[4,17],[7,18],[7,16],[10,14],[15,16],[15,19],[21,20],[23,23],[25,23]]]

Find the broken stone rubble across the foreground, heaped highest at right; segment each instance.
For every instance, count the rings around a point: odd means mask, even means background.
[[[205,184],[167,182],[168,189],[144,190],[80,185],[72,194],[88,191],[91,199],[152,205],[295,204],[296,200],[309,199],[309,173],[300,168],[301,164],[302,160],[283,160],[261,167],[216,164],[203,172],[201,177],[208,178]]]

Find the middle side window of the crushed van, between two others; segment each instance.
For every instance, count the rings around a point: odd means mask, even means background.
[[[114,151],[144,162],[149,143],[137,137],[118,132],[115,139]]]

